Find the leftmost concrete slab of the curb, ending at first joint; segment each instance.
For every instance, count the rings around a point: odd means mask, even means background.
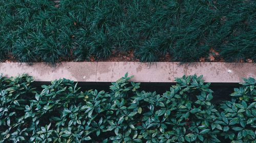
[[[45,63],[0,63],[0,73],[4,76],[17,76],[27,73],[36,81],[51,81],[59,78],[67,78],[74,81],[95,81],[97,63],[90,62],[65,62],[55,68]]]

